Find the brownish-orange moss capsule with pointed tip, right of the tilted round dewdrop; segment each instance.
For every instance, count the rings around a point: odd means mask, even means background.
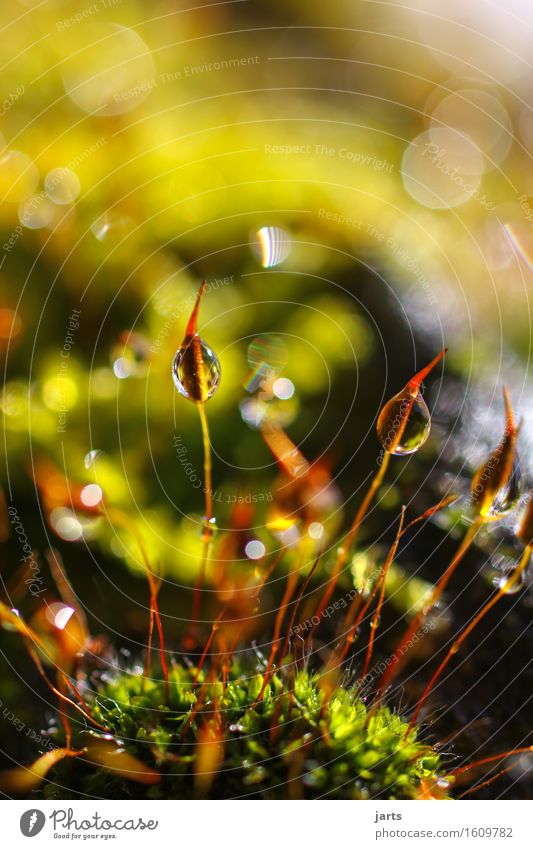
[[[504,387],[505,431],[487,460],[472,478],[472,503],[478,517],[485,522],[502,519],[515,507],[520,497],[521,474],[516,443],[520,428],[516,427],[509,393]]]

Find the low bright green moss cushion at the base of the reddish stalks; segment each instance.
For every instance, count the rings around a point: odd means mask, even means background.
[[[89,702],[121,748],[161,773],[159,783],[139,787],[76,759],[58,765],[46,796],[413,799],[439,780],[439,755],[416,729],[405,739],[407,723],[386,706],[370,712],[355,687],[337,687],[327,701],[319,674],[298,672],[292,690],[276,674],[261,699],[263,677],[244,664],[226,687],[202,676],[195,684],[181,665],[169,684],[165,703],[163,682],[121,674]],[[76,743],[98,736],[85,730]]]

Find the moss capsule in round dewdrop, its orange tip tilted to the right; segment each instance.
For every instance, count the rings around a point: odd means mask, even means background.
[[[381,410],[377,432],[383,449],[388,454],[405,456],[422,447],[431,430],[431,416],[422,398],[420,387],[429,372],[442,359],[448,349],[431,360],[411,378],[401,392],[387,401]]]

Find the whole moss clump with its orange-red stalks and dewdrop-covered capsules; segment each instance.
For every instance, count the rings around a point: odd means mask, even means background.
[[[417,723],[452,657],[489,610],[504,604],[522,580],[533,545],[531,497],[516,532],[524,549],[515,570],[460,630],[418,704],[402,716],[390,690],[400,661],[420,635],[429,632],[432,612],[478,531],[508,515],[519,498],[518,429],[508,393],[504,436],[474,475],[472,524],[424,604],[412,615],[397,648],[376,662],[379,625],[398,547],[413,525],[446,509],[456,496],[446,494],[413,518],[402,507],[392,544],[364,586],[354,591],[352,584],[347,599],[345,591],[339,598],[335,594],[351,574],[359,531],[390,461],[415,453],[430,435],[431,418],[421,386],[445,351],[417,372],[379,414],[382,462],[327,568],[322,562],[326,557],[322,517],[308,507],[309,492],[323,493],[327,487],[327,472],[303,456],[279,422],[273,423],[266,413],[260,418],[257,429],[288,482],[285,501],[274,499],[268,506],[265,527],[280,544],[267,556],[263,539],[249,536],[252,502],[236,501],[229,530],[219,534],[214,530],[205,404],[220,384],[221,370],[216,354],[197,332],[203,292],[204,285],[172,364],[176,388],[198,408],[204,446],[205,516],[190,622],[181,633],[173,633],[172,640],[167,635],[167,645],[159,607],[162,567],[152,563],[141,527],[107,503],[105,493],[87,504],[87,498],[76,495],[75,482],[68,481],[64,490],[70,504],[74,499],[80,513],[85,510],[112,522],[138,548],[149,589],[146,654],[125,670],[119,655],[98,651],[66,570],[52,552],[49,566],[58,597],[48,592],[39,599],[40,607],[28,621],[23,612],[2,604],[0,623],[21,639],[57,700],[61,722],[55,730],[57,747],[31,765],[3,773],[2,791],[54,799],[138,795],[447,799],[457,795],[456,785],[463,784],[471,770],[529,752],[523,747],[454,767],[450,755],[442,754],[442,746],[432,743]],[[265,396],[269,380],[268,370],[263,370]],[[61,478],[54,474],[53,497],[48,472],[36,478],[45,512],[58,506]],[[305,542],[301,542],[303,525]],[[268,542],[266,535],[264,539]],[[242,548],[252,561],[244,568]],[[270,616],[261,610],[261,602],[271,578],[282,590]],[[207,580],[216,590],[219,607],[214,616],[202,620]],[[302,621],[310,626],[303,628]],[[318,641],[326,621],[331,638]],[[157,663],[152,659],[154,631],[159,642]],[[354,644],[366,631],[366,647],[355,654]],[[508,768],[461,795],[486,786]]]

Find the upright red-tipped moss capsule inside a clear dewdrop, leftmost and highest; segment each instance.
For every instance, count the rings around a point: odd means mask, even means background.
[[[196,321],[205,280],[200,286],[185,337],[172,361],[172,379],[178,392],[195,404],[203,404],[220,383],[220,362],[215,352],[198,335]]]

